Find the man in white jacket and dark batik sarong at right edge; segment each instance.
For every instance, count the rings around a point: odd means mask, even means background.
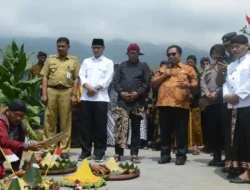
[[[223,97],[228,102],[231,133],[226,136],[226,167],[243,169],[244,173],[230,180],[232,183],[250,182],[250,55],[248,39],[237,35],[231,40],[231,50],[237,60],[227,67]],[[227,151],[226,151],[227,153]]]

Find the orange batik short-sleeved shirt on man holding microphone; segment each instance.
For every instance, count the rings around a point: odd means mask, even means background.
[[[155,77],[161,76],[167,67],[161,67],[155,74]],[[194,69],[183,63],[178,63],[171,69],[172,73],[169,78],[164,80],[159,88],[157,106],[179,107],[184,109],[190,108],[190,90],[177,87],[179,82],[197,81]]]

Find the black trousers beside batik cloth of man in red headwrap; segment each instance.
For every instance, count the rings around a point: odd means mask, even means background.
[[[129,118],[131,119],[131,146],[130,146],[130,154],[131,156],[137,156],[140,148],[140,126],[141,126],[141,116],[137,116],[134,114],[130,114]],[[123,156],[124,149],[119,145],[115,145],[115,154]]]

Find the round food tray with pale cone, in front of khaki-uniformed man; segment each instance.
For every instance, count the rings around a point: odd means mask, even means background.
[[[43,160],[38,160],[37,164],[40,167],[41,174],[45,174],[50,165],[47,175],[68,174],[77,170],[77,161],[59,158],[53,161],[53,156],[50,153],[47,153]],[[22,169],[25,170],[27,166],[28,161],[25,160]]]

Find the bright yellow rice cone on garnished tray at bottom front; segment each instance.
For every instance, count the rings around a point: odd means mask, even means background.
[[[103,185],[106,185],[106,181],[92,173],[87,159],[83,161],[73,175],[64,177],[61,180],[61,186],[75,189],[99,188]]]

